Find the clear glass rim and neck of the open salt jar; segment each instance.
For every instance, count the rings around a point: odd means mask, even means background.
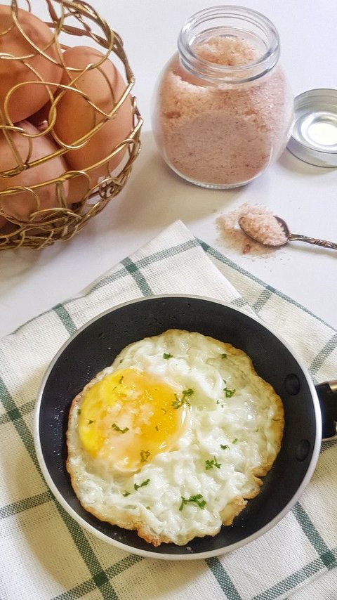
[[[253,60],[221,64],[199,56],[197,48],[209,40],[227,38],[241,41],[254,51]],[[267,74],[279,60],[279,34],[261,13],[242,6],[206,8],[185,22],[178,37],[183,67],[200,79],[225,84],[253,81]]]

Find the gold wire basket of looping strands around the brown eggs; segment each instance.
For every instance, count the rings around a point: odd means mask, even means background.
[[[26,1],[27,7],[25,6],[25,10],[32,12],[29,1]],[[79,74],[77,73],[76,77],[72,75],[73,79],[71,86],[55,86],[51,81],[43,81],[41,75],[34,71],[34,73],[37,74],[37,77],[34,77],[35,84],[42,84],[46,87],[51,105],[51,110],[48,112],[48,124],[46,124],[44,130],[39,131],[39,136],[53,136],[54,141],[57,141],[57,150],[55,150],[55,152],[35,160],[32,160],[31,151],[32,144],[34,143],[34,136],[29,136],[27,131],[22,129],[20,124],[13,123],[11,121],[11,113],[8,111],[8,103],[11,100],[11,96],[13,93],[18,93],[21,84],[16,84],[8,91],[4,98],[3,106],[1,107],[0,104],[0,136],[6,138],[6,142],[11,148],[11,155],[16,159],[16,166],[13,169],[1,171],[0,156],[0,183],[2,180],[0,188],[0,249],[13,249],[17,247],[41,248],[53,244],[56,240],[69,240],[70,237],[75,235],[86,225],[89,219],[98,214],[105,207],[107,202],[124,188],[131,172],[133,162],[140,150],[140,129],[143,124],[143,119],[138,111],[136,98],[130,95],[135,82],[135,77],[128,64],[121,38],[114,30],[112,30],[110,25],[98,15],[94,8],[82,0],[43,1],[46,5],[46,10],[48,10],[48,15],[50,16],[50,21],[45,20],[44,22],[53,32],[53,41],[55,42],[55,48],[57,48],[58,58],[56,63],[60,65],[62,69],[67,69],[62,58],[63,51],[67,50],[69,47],[79,45],[77,40],[87,37],[91,40],[89,44],[98,48],[100,52],[103,52],[105,58],[110,57],[112,63],[114,62],[112,59],[115,59],[116,57],[121,61],[125,73],[123,79],[126,80],[126,84],[124,93],[122,93],[119,98],[113,98],[113,109],[109,113],[97,108],[86,94],[82,94],[82,97],[84,97],[86,102],[88,102],[91,107],[98,110],[100,119],[99,121],[98,119],[95,119],[90,131],[86,133],[85,136],[71,145],[67,145],[66,143],[62,143],[60,138],[58,138],[54,132],[55,119],[57,118],[57,105],[53,105],[53,102],[55,101],[55,87],[61,88],[62,91],[70,89],[73,93],[74,89],[76,89],[77,93],[81,93],[76,86]],[[11,1],[11,9],[8,7],[8,11],[9,10],[11,10],[12,13],[12,26],[20,28],[20,23],[18,22],[18,4],[16,0]],[[22,34],[21,28],[20,31]],[[0,36],[1,34],[3,34],[3,32],[0,32]],[[62,36],[67,40],[71,37],[71,41],[74,41],[75,43],[70,44],[70,46],[62,43]],[[26,34],[25,37],[27,39]],[[32,48],[32,54],[20,57],[19,59],[25,66],[27,65],[27,59],[34,56],[35,52],[44,53],[46,51],[46,48],[41,51],[40,48],[32,45],[32,41],[29,39],[28,41]],[[44,56],[46,56],[45,53]],[[13,60],[13,58],[18,60],[17,57],[11,56],[10,53],[1,53],[0,48],[0,63],[2,60],[6,60],[8,70],[11,69],[11,60]],[[99,68],[100,64],[95,65],[94,68],[96,66]],[[91,67],[93,67],[93,65],[91,65]],[[32,83],[32,81],[29,81],[28,83]],[[25,84],[27,84],[27,81]],[[37,165],[57,156],[65,157],[67,152],[71,152],[74,148],[83,148],[87,141],[95,135],[96,131],[99,131],[109,119],[114,119],[116,117],[118,111],[121,110],[121,106],[126,101],[126,98],[128,98],[128,101],[130,101],[131,98],[131,131],[123,141],[118,143],[112,151],[104,157],[104,159],[95,162],[95,164],[86,167],[86,169],[81,169],[80,171],[71,171],[70,169],[67,169],[62,176],[58,178],[53,178],[48,181],[39,181],[30,187],[26,187],[25,185],[19,187],[18,185],[13,185],[13,183],[11,184],[11,178],[14,176],[24,173],[27,174],[29,169],[33,169],[34,167],[37,167]],[[74,116],[70,118],[74,118]],[[13,132],[15,132],[15,135],[20,134],[21,136],[25,136],[26,145],[27,140],[29,141],[29,151],[26,152],[26,156],[24,157],[20,155],[18,148],[15,147],[15,143],[13,143]],[[113,171],[110,171],[110,162],[119,152],[121,153],[121,156],[123,156],[121,164]],[[98,182],[92,186],[90,173],[93,169],[97,169],[98,167],[105,167],[106,174],[101,176]],[[67,189],[69,188],[67,186],[69,186],[69,181],[74,177],[84,178],[84,181],[86,181],[86,190],[81,197],[76,198],[76,202],[68,204]],[[6,182],[6,185],[4,185],[4,181]],[[39,190],[48,185],[52,185],[55,188],[55,203],[52,208],[43,208],[41,207]],[[8,200],[11,200],[12,197],[18,198],[18,194],[23,192],[29,193],[29,198],[31,199],[31,202],[33,202],[34,209],[27,218],[22,219],[21,216],[19,219],[18,215],[13,216],[13,211],[8,211]]]

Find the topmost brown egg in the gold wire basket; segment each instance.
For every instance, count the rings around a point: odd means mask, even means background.
[[[18,22],[25,35],[32,43],[51,57],[51,60],[42,56],[25,39],[18,27],[13,22],[10,6],[0,5],[0,55],[11,54],[17,58],[0,58],[0,108],[4,108],[4,100],[8,91],[16,84],[25,81],[51,81],[59,84],[62,77],[62,67],[55,65],[53,60],[59,62],[58,51],[53,44],[53,32],[39,18],[18,9]],[[36,56],[31,56],[32,54]],[[25,60],[19,60],[26,56]],[[24,64],[27,63],[26,65]],[[40,77],[32,71],[36,70]],[[51,86],[51,93],[56,87]],[[20,86],[9,99],[8,112],[13,123],[22,121],[37,112],[49,99],[48,91],[44,84],[25,84]]]

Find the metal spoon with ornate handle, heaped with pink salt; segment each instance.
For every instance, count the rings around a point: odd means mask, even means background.
[[[259,244],[263,244],[263,246],[278,248],[288,242],[298,240],[299,242],[307,242],[308,244],[337,250],[337,244],[333,242],[317,240],[316,237],[308,237],[298,233],[290,233],[286,222],[272,213],[246,213],[239,218],[239,226],[248,237]]]

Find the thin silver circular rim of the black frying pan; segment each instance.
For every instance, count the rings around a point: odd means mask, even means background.
[[[77,337],[77,335],[81,334],[82,331],[86,330],[87,327],[92,325],[93,322],[97,321],[98,319],[102,318],[103,316],[105,316],[109,313],[112,313],[112,312],[118,310],[119,308],[123,308],[124,306],[128,306],[130,304],[138,304],[143,301],[149,301],[151,299],[168,299],[168,298],[170,298],[170,299],[171,298],[182,298],[182,299],[192,299],[192,300],[197,299],[197,300],[201,300],[201,301],[207,301],[207,302],[211,302],[211,303],[215,303],[215,304],[220,304],[220,306],[225,306],[226,308],[230,308],[231,310],[236,311],[237,313],[241,313],[241,314],[245,315],[246,317],[251,318],[251,320],[256,321],[259,325],[261,325],[267,331],[269,331],[272,335],[274,335],[279,341],[281,341],[281,343],[291,353],[291,355],[297,361],[300,369],[303,372],[305,380],[310,389],[312,405],[313,405],[314,412],[315,412],[315,422],[316,422],[315,443],[314,443],[314,447],[313,447],[313,451],[312,451],[312,457],[310,459],[310,464],[308,465],[308,469],[305,473],[303,481],[298,486],[296,493],[293,495],[293,497],[291,497],[291,500],[289,500],[289,502],[283,507],[283,509],[277,514],[277,516],[275,516],[274,519],[269,521],[269,523],[267,523],[263,528],[260,528],[255,533],[249,535],[248,537],[245,537],[242,540],[239,540],[239,542],[235,542],[234,544],[230,544],[230,545],[222,547],[222,548],[217,548],[217,549],[209,550],[206,552],[194,552],[191,554],[179,554],[179,553],[165,554],[165,553],[156,553],[155,550],[150,551],[150,550],[144,550],[144,549],[140,549],[140,548],[134,548],[134,547],[128,546],[128,544],[119,542],[118,540],[115,540],[112,537],[108,537],[104,533],[101,533],[95,527],[91,526],[90,523],[88,523],[79,514],[77,514],[77,512],[70,506],[70,504],[67,503],[65,498],[62,496],[62,494],[58,490],[58,487],[55,485],[53,478],[51,477],[51,474],[48,471],[48,467],[46,466],[46,462],[44,460],[44,454],[42,452],[41,439],[40,439],[40,435],[39,435],[40,408],[41,408],[41,401],[42,401],[42,396],[44,393],[44,388],[46,386],[46,381],[48,380],[51,370],[53,370],[53,367],[54,367],[55,363],[57,362],[58,358],[65,351],[65,348],[67,348],[67,346],[72,342],[72,340],[75,337]],[[112,308],[107,308],[106,311],[103,311],[102,313],[99,313],[92,319],[88,320],[86,323],[84,323],[84,325],[81,325],[81,327],[79,327],[79,329],[76,332],[74,332],[74,334],[72,334],[67,339],[67,341],[65,341],[64,344],[62,344],[62,346],[59,348],[58,352],[55,353],[55,356],[49,363],[49,365],[46,369],[46,372],[44,373],[44,377],[41,380],[41,384],[39,386],[39,391],[37,393],[36,405],[35,405],[35,409],[34,409],[35,452],[37,454],[39,467],[42,471],[44,479],[46,480],[46,484],[48,485],[48,488],[51,490],[51,492],[55,496],[56,500],[58,500],[58,502],[65,509],[65,511],[67,511],[67,513],[70,514],[72,519],[77,521],[77,523],[79,523],[79,525],[81,527],[83,527],[84,529],[86,529],[88,532],[95,535],[95,537],[98,537],[100,540],[104,541],[107,544],[113,545],[114,547],[124,550],[124,552],[136,554],[138,556],[142,556],[143,558],[149,558],[149,559],[155,559],[155,560],[176,561],[176,560],[208,559],[213,556],[220,556],[222,554],[227,554],[228,552],[233,552],[234,550],[237,550],[240,547],[244,547],[247,544],[253,542],[254,540],[257,540],[258,537],[260,537],[261,535],[264,535],[265,533],[267,533],[267,531],[269,531],[277,523],[279,523],[279,521],[281,521],[284,518],[284,516],[286,516],[286,514],[293,508],[293,506],[296,504],[296,502],[298,501],[300,496],[303,494],[303,491],[307,487],[310,479],[312,478],[312,474],[315,471],[317,460],[319,458],[319,450],[320,450],[321,444],[322,444],[322,416],[321,416],[321,410],[319,407],[319,400],[317,397],[317,392],[315,389],[315,384],[313,383],[313,381],[310,377],[308,368],[305,367],[305,365],[303,365],[302,359],[298,358],[296,353],[293,351],[293,348],[291,348],[291,345],[286,340],[284,340],[283,337],[278,332],[275,332],[275,330],[273,330],[272,327],[270,327],[269,325],[266,325],[263,321],[261,321],[255,315],[250,315],[246,311],[242,310],[242,308],[237,308],[236,306],[235,307],[230,306],[230,304],[227,304],[226,302],[221,301],[219,299],[214,299],[211,296],[199,296],[196,294],[152,294],[150,296],[140,296],[139,298],[128,300],[128,301],[122,302],[120,304],[117,304],[116,306],[113,306]]]

